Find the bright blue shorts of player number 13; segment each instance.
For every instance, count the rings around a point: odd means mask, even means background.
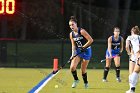
[[[76,54],[80,53],[80,49],[77,48],[76,49]],[[79,57],[85,59],[85,60],[90,60],[91,56],[92,56],[92,53],[91,53],[91,47],[88,47],[85,49],[85,52],[82,52],[78,55]]]

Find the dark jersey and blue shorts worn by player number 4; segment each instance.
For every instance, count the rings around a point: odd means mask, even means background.
[[[121,47],[121,36],[119,36],[118,40],[115,40],[114,35],[112,35],[112,42],[111,42],[111,54],[112,56],[115,56],[120,53],[120,47]],[[109,57],[110,54],[108,52],[108,49],[106,51],[106,57]]]

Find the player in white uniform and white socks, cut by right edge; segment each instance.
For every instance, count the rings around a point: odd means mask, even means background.
[[[140,72],[140,31],[138,26],[131,29],[131,35],[126,39],[126,51],[130,56],[129,62],[129,85],[130,89],[126,93],[135,93]]]

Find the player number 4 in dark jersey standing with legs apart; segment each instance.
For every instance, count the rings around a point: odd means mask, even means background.
[[[114,59],[116,66],[116,80],[121,82],[120,79],[120,54],[123,51],[123,38],[119,35],[120,29],[114,28],[114,35],[108,38],[108,49],[106,51],[106,66],[104,68],[103,82],[107,82],[107,75],[111,66],[111,59]]]

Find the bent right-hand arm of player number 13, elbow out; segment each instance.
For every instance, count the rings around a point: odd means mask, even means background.
[[[83,35],[87,39],[87,42],[85,45],[83,45],[83,48],[90,46],[93,42],[92,37],[84,29],[81,30],[81,35]]]

